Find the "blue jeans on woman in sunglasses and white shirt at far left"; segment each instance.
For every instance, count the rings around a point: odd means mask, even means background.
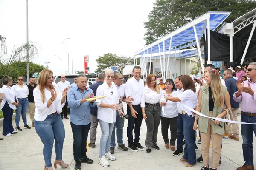
[[[16,127],[20,124],[20,115],[22,116],[22,120],[24,122],[24,125],[27,124],[26,122],[26,113],[29,108],[29,100],[28,98],[19,99],[19,105],[17,106],[17,109],[15,110],[16,116],[15,116],[15,123]]]

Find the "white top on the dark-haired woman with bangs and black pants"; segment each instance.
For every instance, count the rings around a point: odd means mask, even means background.
[[[173,97],[177,97],[177,91],[172,91],[170,94]],[[166,101],[166,91],[163,90],[161,92],[161,102]],[[172,101],[167,101],[166,105],[162,105],[162,111],[161,111],[161,116],[162,117],[167,117],[167,118],[173,118],[179,115],[178,108],[177,108],[177,102],[172,102]]]

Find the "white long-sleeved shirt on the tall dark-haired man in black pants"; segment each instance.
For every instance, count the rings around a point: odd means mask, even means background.
[[[141,103],[141,96],[144,90],[144,82],[142,79],[137,81],[134,77],[128,79],[125,83],[125,96],[131,96],[134,98],[133,105],[139,105]]]

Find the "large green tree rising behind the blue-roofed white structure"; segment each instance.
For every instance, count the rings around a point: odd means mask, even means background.
[[[253,10],[254,0],[156,0],[153,10],[144,23],[146,44],[175,31],[208,11],[230,11],[225,20],[231,23],[236,18]]]

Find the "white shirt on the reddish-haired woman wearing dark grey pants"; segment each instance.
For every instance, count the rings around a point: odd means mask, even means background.
[[[157,93],[155,90],[151,90],[147,85],[144,87],[142,96],[141,96],[141,107],[145,107],[145,103],[155,104],[160,102],[161,98],[161,88],[159,87],[160,94]]]

